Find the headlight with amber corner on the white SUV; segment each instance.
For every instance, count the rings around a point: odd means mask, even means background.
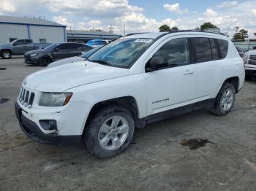
[[[42,93],[39,106],[64,106],[71,97],[72,93]]]

